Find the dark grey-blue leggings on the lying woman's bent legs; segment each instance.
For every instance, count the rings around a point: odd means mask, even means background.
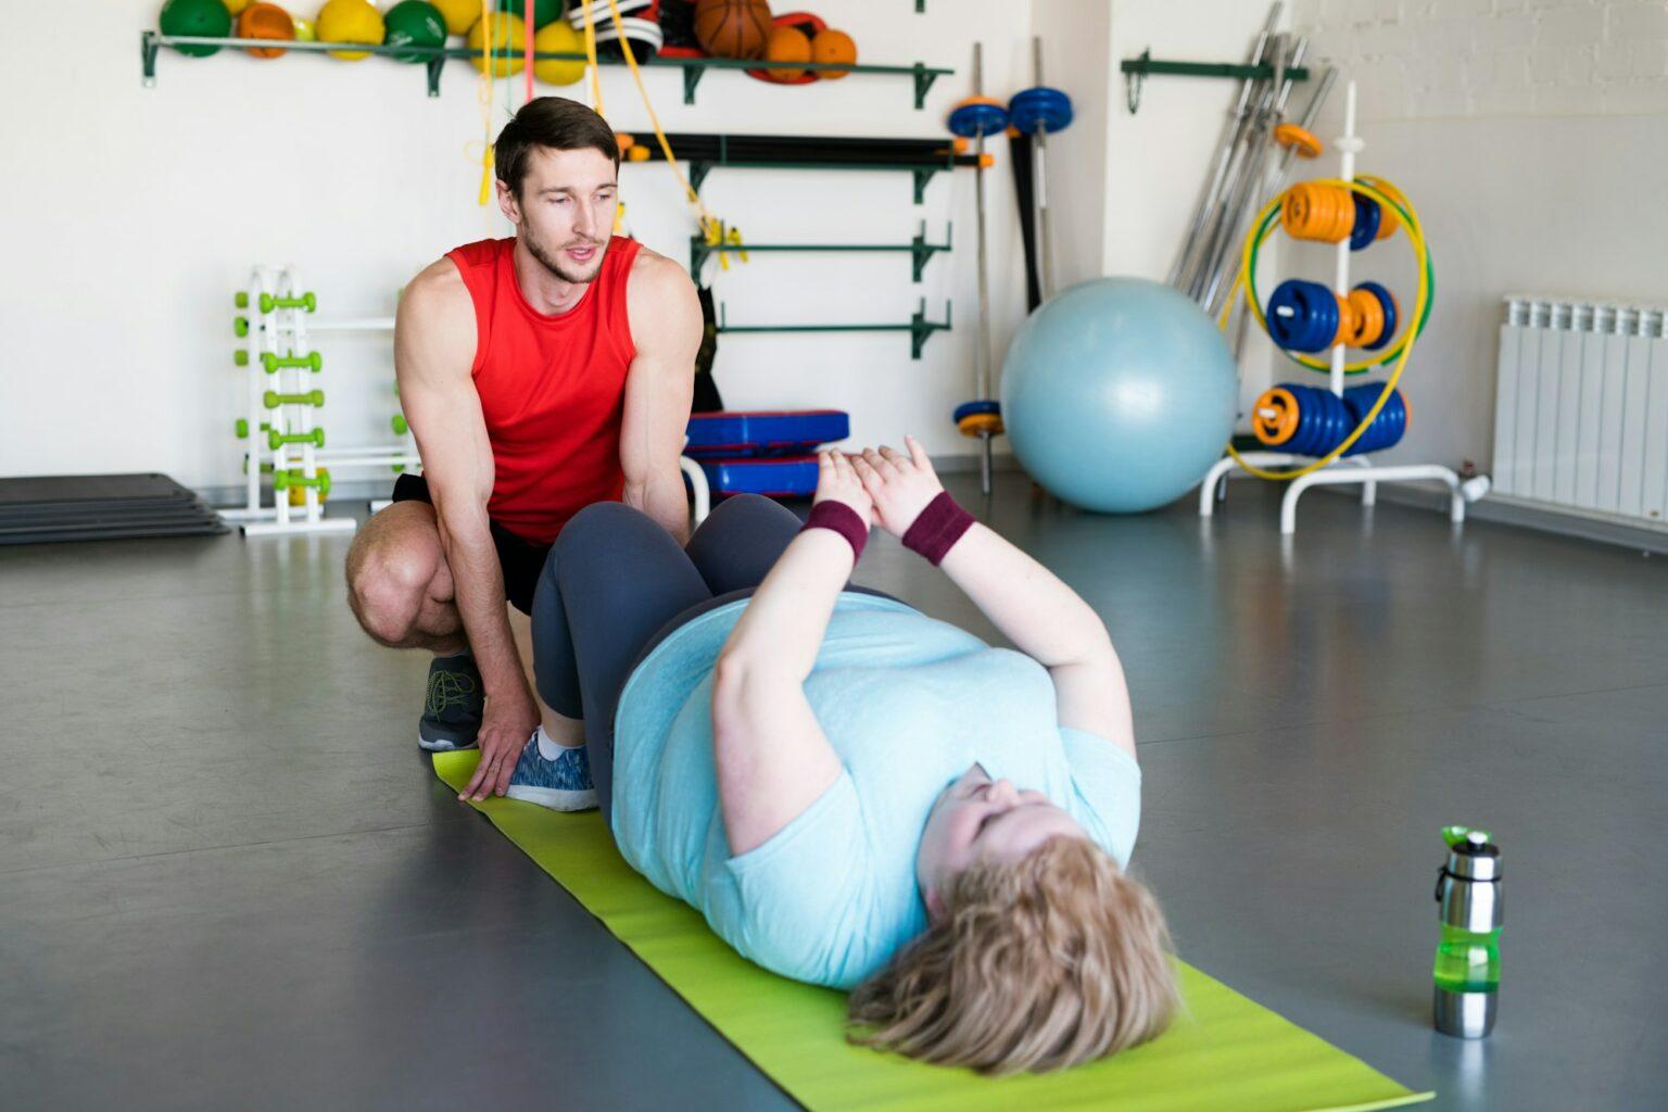
[[[620,502],[589,505],[562,528],[532,599],[532,665],[539,697],[585,722],[604,819],[626,680],[679,625],[752,594],[799,525],[792,510],[744,493],[721,502],[687,548]]]

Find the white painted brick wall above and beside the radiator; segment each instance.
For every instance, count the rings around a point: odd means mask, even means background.
[[[1403,380],[1413,422],[1386,458],[1488,470],[1501,295],[1668,293],[1668,5],[1298,0],[1293,23],[1361,83],[1359,167],[1404,188],[1436,260]],[[1363,277],[1411,298],[1388,243],[1356,257]]]

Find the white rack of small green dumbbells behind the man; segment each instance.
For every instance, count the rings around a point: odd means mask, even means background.
[[[329,472],[357,467],[402,470],[420,467],[422,460],[400,415],[392,422],[400,435],[397,443],[325,450],[324,428],[315,420],[324,392],[310,387],[324,357],[310,347],[309,332],[392,332],[394,318],[314,322],[317,298],[302,290],[294,267],[275,265],[254,267],[249,288],[237,295],[237,307],[247,313],[237,318],[244,347],[235,360],[249,373],[249,415],[239,420],[239,435],[249,438],[244,455],[245,505],[222,515],[240,522],[247,537],[354,532],[357,522],[352,517],[324,515]],[[272,475],[272,505],[264,502],[262,478],[267,473]],[[292,488],[302,493],[300,505],[290,505]]]

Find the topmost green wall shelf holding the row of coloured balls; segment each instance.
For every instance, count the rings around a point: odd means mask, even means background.
[[[479,50],[470,50],[469,47],[372,47],[360,43],[337,43],[337,42],[287,42],[274,38],[208,38],[202,35],[163,35],[162,32],[140,32],[140,65],[143,72],[145,87],[157,83],[157,55],[162,53],[163,47],[225,47],[232,50],[239,48],[262,48],[262,50],[295,50],[300,53],[324,53],[330,50],[352,50],[377,55],[400,55],[402,58],[422,58],[420,65],[429,77],[429,95],[440,95],[440,70],[445,67],[447,58],[479,58]],[[502,55],[500,55],[502,57]],[[520,52],[512,52],[512,57],[524,58]],[[552,53],[552,52],[535,52],[535,62],[544,60],[564,60],[564,62],[584,62],[582,53]],[[419,63],[412,63],[419,65]],[[614,62],[604,58],[599,65],[626,65],[624,62]],[[842,62],[752,62],[747,58],[669,58],[654,57],[639,65],[649,68],[681,68],[684,72],[684,103],[696,103],[696,87],[701,85],[701,78],[707,70],[844,70],[847,73],[891,73],[906,75],[914,78],[916,90],[916,108],[926,105],[927,90],[932,88],[932,82],[939,77],[947,77],[956,70],[929,67],[921,62],[914,65],[847,65]]]

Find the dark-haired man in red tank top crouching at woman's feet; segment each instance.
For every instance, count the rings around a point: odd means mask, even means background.
[[[529,102],[495,168],[515,237],[459,247],[400,297],[394,362],[424,473],[354,540],[349,602],[377,642],[434,654],[419,744],[479,742],[465,795],[502,795],[537,744],[579,809],[594,805],[580,722],[530,680],[534,587],[592,502],[687,540],[701,305],[682,267],[612,235],[619,147],[595,112]]]

